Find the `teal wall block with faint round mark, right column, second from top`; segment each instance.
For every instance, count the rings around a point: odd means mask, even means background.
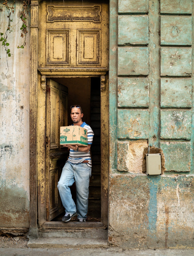
[[[160,27],[161,44],[192,44],[192,20],[190,16],[161,16]]]

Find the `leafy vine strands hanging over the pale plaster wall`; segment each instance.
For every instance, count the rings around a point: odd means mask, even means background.
[[[17,46],[17,48],[21,48],[23,49],[24,46],[26,45],[26,35],[27,35],[27,15],[28,15],[28,5],[30,3],[30,0],[23,0],[23,5],[22,5],[22,9],[21,9],[21,13],[20,13],[20,20],[22,20],[23,24],[20,28],[21,31],[21,37],[24,38],[24,42],[21,46]],[[6,56],[8,57],[11,57],[11,52],[10,52],[10,49],[9,49],[9,43],[7,42],[7,38],[8,36],[10,35],[10,33],[13,31],[12,30],[12,22],[13,22],[13,14],[14,14],[14,9],[15,9],[15,0],[11,3],[10,1],[8,2],[8,0],[3,0],[3,5],[5,6],[6,8],[6,11],[7,11],[7,18],[8,18],[8,25],[7,25],[7,28],[6,28],[6,31],[3,33],[1,31],[1,28],[0,28],[0,42],[2,42],[2,47],[3,49],[6,51]],[[19,20],[19,21],[20,21]],[[18,21],[18,22],[19,22]]]

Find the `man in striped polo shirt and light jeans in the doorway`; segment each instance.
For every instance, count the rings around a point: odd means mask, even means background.
[[[63,167],[61,177],[58,182],[58,189],[65,215],[62,221],[67,222],[77,214],[79,222],[86,221],[88,212],[89,181],[92,170],[92,160],[90,147],[94,133],[89,125],[82,121],[83,113],[79,105],[71,106],[71,120],[73,125],[79,125],[88,130],[88,146],[78,147],[78,145],[63,145],[70,149],[70,155]],[[70,186],[76,184],[76,205],[72,199]]]

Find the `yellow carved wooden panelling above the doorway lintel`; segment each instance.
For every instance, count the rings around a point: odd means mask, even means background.
[[[85,67],[108,70],[108,2],[41,1],[40,5],[40,17],[46,16],[39,34],[41,72],[56,67],[63,67],[60,72]]]

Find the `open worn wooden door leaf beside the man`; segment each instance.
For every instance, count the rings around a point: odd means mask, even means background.
[[[64,211],[57,184],[67,151],[60,147],[60,126],[67,126],[68,89],[51,79],[47,81],[46,116],[46,184],[47,184],[47,221]]]

